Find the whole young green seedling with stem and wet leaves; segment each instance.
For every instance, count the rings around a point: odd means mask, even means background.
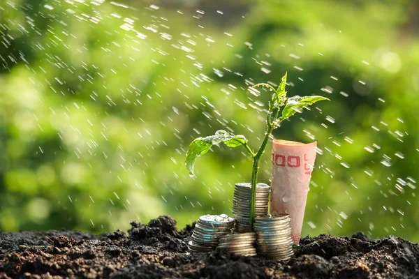
[[[304,107],[313,105],[319,100],[329,100],[328,98],[322,96],[294,96],[288,98],[286,95],[286,77],[284,75],[281,79],[281,83],[278,86],[278,89],[267,83],[259,83],[250,87],[250,89],[255,89],[259,86],[267,87],[272,91],[272,98],[268,105],[267,117],[266,117],[266,132],[265,137],[263,138],[262,144],[258,152],[254,153],[250,148],[248,141],[244,135],[233,135],[225,130],[217,130],[215,135],[210,135],[208,137],[198,137],[189,145],[189,151],[186,153],[186,168],[189,170],[190,175],[193,177],[193,166],[195,165],[195,160],[198,156],[207,153],[210,150],[211,146],[214,144],[219,144],[223,142],[227,146],[236,147],[244,146],[244,148],[249,153],[249,156],[253,159],[253,167],[251,172],[251,200],[250,200],[250,220],[253,224],[253,219],[256,215],[256,184],[258,182],[258,172],[260,158],[265,152],[265,148],[269,138],[272,137],[272,132],[274,129],[281,126],[281,122],[290,118],[297,112],[302,112]],[[252,226],[253,227],[253,226]]]

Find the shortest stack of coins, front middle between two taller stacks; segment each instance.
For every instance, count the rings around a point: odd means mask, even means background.
[[[244,234],[226,234],[220,236],[217,249],[232,252],[238,256],[256,256],[256,235],[254,232]]]

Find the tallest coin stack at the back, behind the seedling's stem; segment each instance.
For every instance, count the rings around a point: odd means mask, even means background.
[[[267,214],[270,186],[258,183],[256,188],[256,216]],[[250,183],[236,183],[233,197],[233,218],[237,232],[251,232],[250,227]]]

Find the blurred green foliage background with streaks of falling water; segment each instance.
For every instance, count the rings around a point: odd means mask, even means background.
[[[256,82],[321,95],[275,137],[320,148],[302,235],[419,241],[417,1],[0,0],[0,229],[179,229],[231,213],[265,130]],[[260,181],[269,183],[270,148]]]

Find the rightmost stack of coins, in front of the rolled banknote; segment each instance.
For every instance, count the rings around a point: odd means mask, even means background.
[[[270,259],[289,259],[293,254],[291,218],[288,214],[259,216],[253,228],[256,232],[258,254]]]

